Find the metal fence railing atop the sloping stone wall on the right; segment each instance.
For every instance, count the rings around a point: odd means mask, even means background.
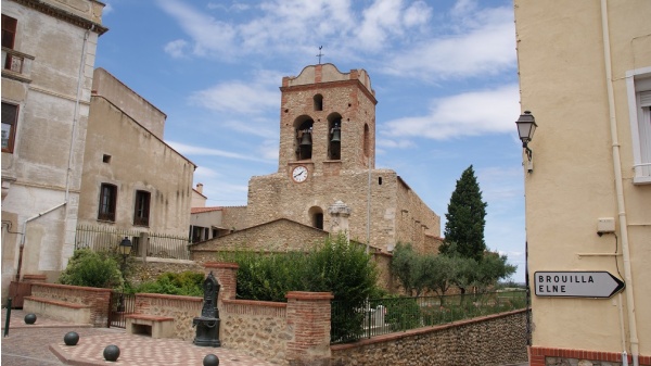
[[[371,299],[362,308],[350,308],[345,301],[334,300],[330,340],[331,343],[352,342],[361,338],[436,326],[525,306],[524,290]]]

